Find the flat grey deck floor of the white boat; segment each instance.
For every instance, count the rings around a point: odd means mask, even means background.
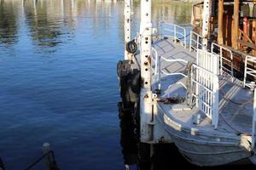
[[[196,53],[190,52],[189,48],[183,48],[178,42],[173,42],[172,39],[162,39],[154,42],[153,47],[157,50],[158,55],[166,59],[185,59],[195,62]],[[138,57],[137,57],[138,62]],[[152,63],[154,68],[154,62]],[[183,62],[166,62],[161,60],[161,71],[166,73],[183,72],[186,74],[187,65]],[[154,78],[153,78],[154,79]],[[187,101],[182,104],[164,104],[159,102],[159,107],[165,112],[166,116],[172,117],[174,122],[177,122],[182,127],[189,129],[195,128],[198,131],[211,133],[230,133],[230,135],[246,134],[251,135],[253,123],[253,91],[242,88],[242,82],[236,78],[231,81],[228,74],[223,74],[219,79],[219,106],[218,106],[218,128],[214,129],[210,118],[203,114],[195,106],[190,109]],[[160,99],[170,97],[186,98],[187,78],[181,75],[162,76]],[[153,81],[153,90],[157,84]],[[196,114],[201,115],[199,124],[193,123],[193,117]]]

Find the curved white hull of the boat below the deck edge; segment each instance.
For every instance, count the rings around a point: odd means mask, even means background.
[[[157,118],[172,138],[180,153],[197,166],[219,166],[241,161],[252,156],[252,152],[241,145],[241,139],[224,138],[186,131],[177,126],[170,116],[159,109]]]

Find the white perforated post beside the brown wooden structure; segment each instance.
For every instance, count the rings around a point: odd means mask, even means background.
[[[207,37],[209,33],[209,19],[210,19],[210,0],[204,0],[204,9],[203,9],[203,23],[202,23],[202,37],[203,39],[203,48],[207,48]]]

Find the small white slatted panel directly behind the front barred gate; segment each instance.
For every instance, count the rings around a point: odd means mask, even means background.
[[[218,75],[218,55],[198,49],[196,54],[196,65],[201,66],[207,71],[211,71],[215,75]]]

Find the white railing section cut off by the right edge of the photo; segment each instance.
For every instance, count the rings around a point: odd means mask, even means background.
[[[256,78],[256,70],[250,68],[248,65],[255,65],[256,64],[256,58],[250,55],[247,55],[245,58],[245,65],[244,65],[244,77],[243,77],[243,88],[246,86],[248,88],[255,88],[255,82],[247,83],[247,76],[251,76],[253,78]]]

